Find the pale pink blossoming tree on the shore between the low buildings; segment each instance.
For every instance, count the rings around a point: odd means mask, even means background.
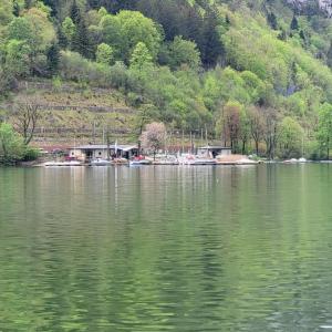
[[[141,142],[143,147],[152,149],[154,153],[154,159],[156,153],[165,144],[167,137],[166,127],[163,123],[153,122],[146,125],[145,132],[141,135]]]

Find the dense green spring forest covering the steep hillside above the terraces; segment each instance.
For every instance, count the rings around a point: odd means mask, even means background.
[[[137,135],[157,121],[235,152],[322,158],[331,41],[318,6],[282,0],[1,0],[0,93],[31,77],[110,87]]]

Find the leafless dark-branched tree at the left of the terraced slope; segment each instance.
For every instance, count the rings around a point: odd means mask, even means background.
[[[40,106],[32,97],[22,97],[13,106],[14,125],[28,145],[33,138],[37,124],[41,117]]]

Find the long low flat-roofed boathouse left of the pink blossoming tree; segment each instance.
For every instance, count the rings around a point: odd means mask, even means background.
[[[82,162],[89,162],[96,158],[126,158],[131,159],[138,155],[137,145],[105,145],[105,144],[87,144],[72,147],[69,151],[71,158],[77,158]]]

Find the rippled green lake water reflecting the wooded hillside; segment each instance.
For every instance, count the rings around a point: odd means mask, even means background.
[[[332,331],[332,165],[0,169],[0,331]]]

